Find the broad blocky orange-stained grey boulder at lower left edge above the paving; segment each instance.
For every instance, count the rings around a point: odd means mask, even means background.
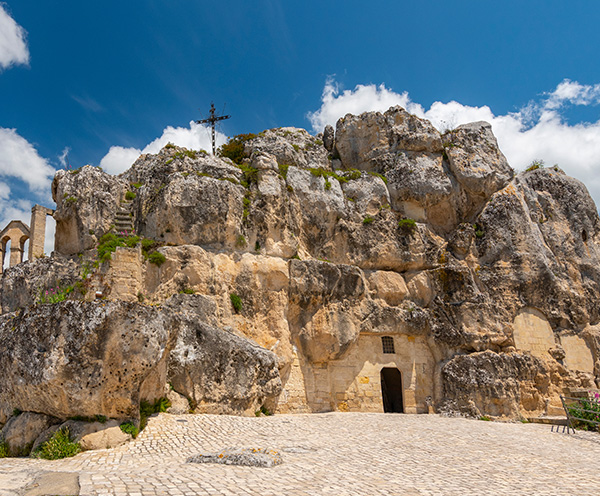
[[[157,310],[69,301],[0,319],[5,415],[18,408],[62,419],[138,417],[141,384],[167,344]]]

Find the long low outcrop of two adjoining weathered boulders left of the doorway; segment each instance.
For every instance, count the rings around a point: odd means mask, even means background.
[[[185,308],[181,304],[161,311],[118,301],[68,301],[3,315],[0,366],[7,373],[0,379],[0,420],[14,408],[60,419],[136,419],[140,400],[164,395],[171,368],[179,371],[177,377],[185,376],[186,387],[191,381],[192,389],[179,389],[190,399],[211,398],[220,382],[237,385],[235,391],[223,388],[218,396],[219,402],[231,403],[230,413],[242,413],[255,403],[260,407],[278,394],[275,355],[199,323],[194,306]],[[216,356],[222,357],[222,365],[213,361]],[[212,411],[217,409],[223,407]]]

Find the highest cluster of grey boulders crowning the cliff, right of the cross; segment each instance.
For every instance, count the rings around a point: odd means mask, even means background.
[[[395,210],[444,231],[477,214],[513,176],[489,124],[442,136],[400,107],[340,119],[335,147],[344,168],[387,176]]]

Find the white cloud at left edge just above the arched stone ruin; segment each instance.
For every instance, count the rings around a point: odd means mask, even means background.
[[[15,177],[37,193],[47,193],[54,168],[15,129],[0,127],[0,176]]]

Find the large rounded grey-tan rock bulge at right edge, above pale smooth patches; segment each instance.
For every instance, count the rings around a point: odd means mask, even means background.
[[[598,212],[585,186],[560,170],[525,172],[481,213],[479,278],[511,313],[541,310],[554,328],[600,318]]]

